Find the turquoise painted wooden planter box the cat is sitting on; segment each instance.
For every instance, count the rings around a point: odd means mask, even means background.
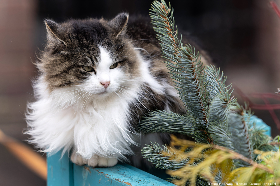
[[[258,117],[251,117],[256,127],[267,130],[271,135],[271,127]],[[117,164],[108,168],[93,168],[73,164],[65,154],[61,158],[61,151],[47,157],[48,186],[174,186],[163,179],[126,164]]]

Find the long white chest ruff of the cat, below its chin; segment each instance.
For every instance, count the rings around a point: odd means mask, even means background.
[[[62,94],[62,92],[67,92]],[[129,131],[129,101],[135,95],[110,96],[96,100],[94,95],[72,93],[71,88],[55,91],[32,103],[28,131],[44,152],[64,152],[72,147],[86,159],[94,155],[124,158],[134,144]]]

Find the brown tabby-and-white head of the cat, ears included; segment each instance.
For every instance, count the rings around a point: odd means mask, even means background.
[[[65,86],[109,94],[138,76],[137,53],[126,34],[128,14],[112,20],[45,20],[47,46],[37,66],[48,91]]]

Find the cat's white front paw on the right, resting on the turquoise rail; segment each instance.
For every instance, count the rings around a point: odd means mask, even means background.
[[[110,157],[100,157],[100,156],[92,156],[91,159],[87,161],[89,166],[93,167],[111,167],[118,163],[117,158],[110,158]]]

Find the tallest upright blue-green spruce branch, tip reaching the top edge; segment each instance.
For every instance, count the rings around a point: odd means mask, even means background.
[[[150,10],[153,28],[179,97],[196,125],[201,125],[200,131],[204,132],[208,142],[213,144],[205,129],[208,125],[208,93],[199,54],[196,54],[191,46],[183,46],[181,39],[176,37],[178,30],[174,32],[173,9],[171,10],[170,5],[168,8],[164,1],[154,1]]]

